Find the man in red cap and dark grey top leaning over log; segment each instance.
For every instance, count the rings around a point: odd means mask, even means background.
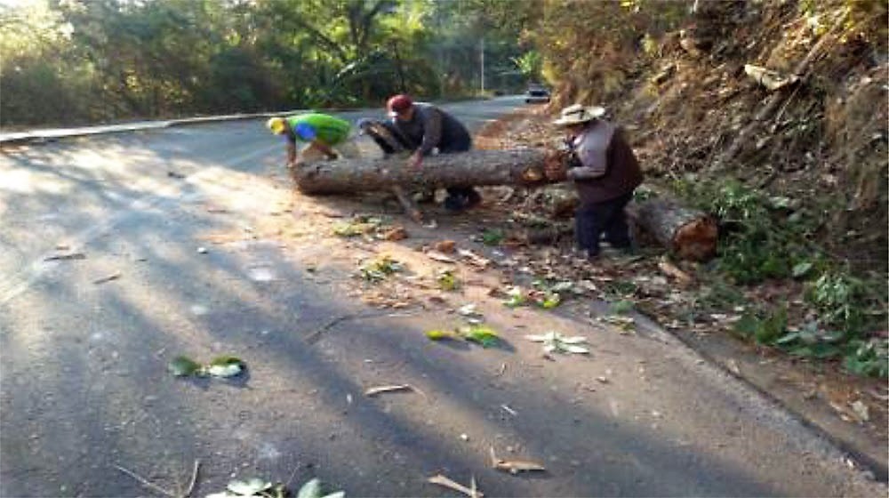
[[[472,137],[466,126],[454,116],[431,104],[415,103],[404,94],[393,96],[386,103],[391,125],[398,138],[413,154],[408,159],[412,168],[420,168],[423,157],[450,154],[472,149]],[[482,197],[471,187],[447,189],[445,209],[461,211],[481,202]]]

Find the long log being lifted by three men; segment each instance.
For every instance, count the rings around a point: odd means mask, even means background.
[[[300,192],[311,195],[348,194],[372,190],[483,185],[535,186],[549,183],[545,161],[560,160],[541,149],[470,150],[425,157],[417,170],[406,157],[338,159],[300,166],[292,171]]]

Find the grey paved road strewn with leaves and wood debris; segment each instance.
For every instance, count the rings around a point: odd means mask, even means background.
[[[519,105],[452,110],[477,127]],[[885,495],[653,325],[618,333],[589,319],[601,309],[586,300],[505,309],[488,295],[496,269],[457,265],[461,293],[421,285],[434,269],[421,245],[485,250],[468,240],[479,215],[396,243],[344,241],[330,236],[341,216],[387,208],[293,196],[283,158],[260,120],[4,152],[0,494],[151,494],[116,466],[182,489],[199,460],[194,495],[253,476],[318,476],[351,496],[453,494],[426,483],[436,473],[474,476],[488,495]],[[70,253],[84,258],[46,261]],[[360,299],[372,289],[352,277],[356,259],[381,253],[411,269],[387,287],[403,309]],[[460,324],[453,308],[468,302],[501,347],[426,339]],[[523,337],[548,330],[588,337],[593,354],[542,358]],[[247,362],[244,379],[164,371],[179,354],[225,353]],[[363,395],[399,383],[416,391]],[[493,470],[491,448],[547,471]]]

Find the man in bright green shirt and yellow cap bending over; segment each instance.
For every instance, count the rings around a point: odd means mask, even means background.
[[[317,112],[296,116],[276,116],[266,123],[276,135],[284,135],[287,141],[287,167],[314,162],[323,158],[357,157],[352,143],[351,124],[339,117]],[[307,145],[296,151],[296,142]]]

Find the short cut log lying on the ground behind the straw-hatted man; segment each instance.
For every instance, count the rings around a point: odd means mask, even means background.
[[[705,261],[717,250],[717,223],[675,201],[652,199],[630,209],[637,225],[684,260]]]

